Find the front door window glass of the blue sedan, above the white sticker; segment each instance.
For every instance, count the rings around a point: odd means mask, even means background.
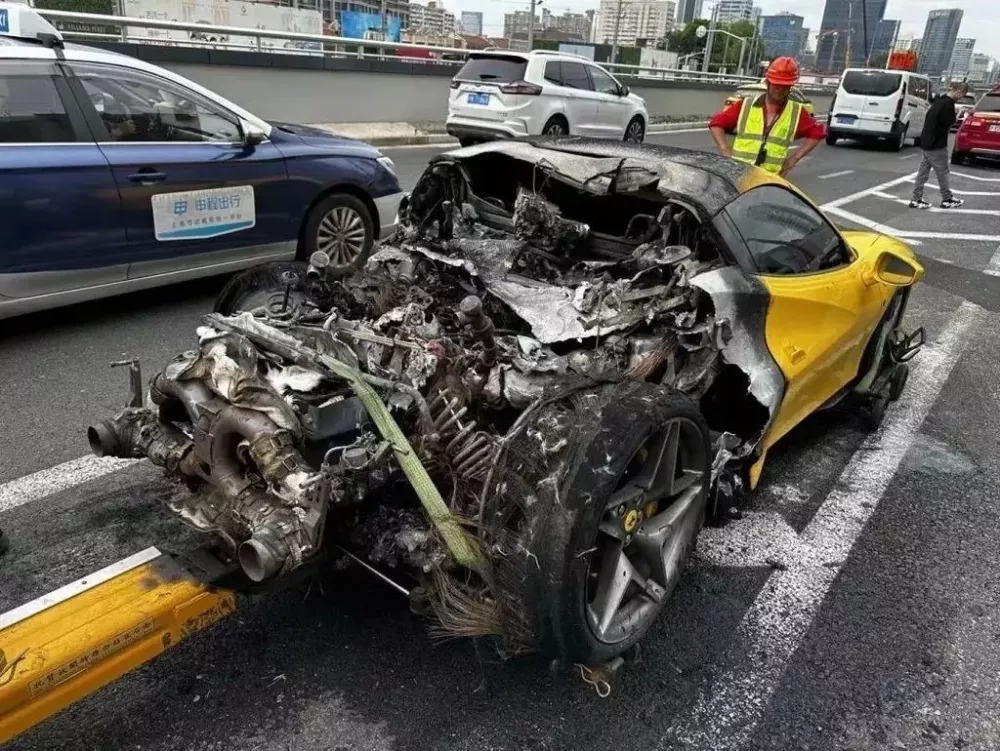
[[[240,140],[236,119],[198,94],[142,71],[74,63],[112,141],[131,143]]]

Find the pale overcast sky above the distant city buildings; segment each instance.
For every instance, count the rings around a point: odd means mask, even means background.
[[[483,32],[488,35],[503,34],[503,15],[516,10],[528,10],[530,0],[437,0],[456,16],[463,10],[483,12]],[[787,10],[804,16],[805,25],[813,32],[819,30],[823,18],[825,0],[755,0],[765,15]],[[886,18],[898,19],[903,22],[900,34],[923,35],[927,12],[939,8],[961,8],[965,11],[962,18],[960,37],[976,39],[976,52],[1000,58],[1000,13],[997,12],[998,0],[889,0],[885,10]],[[598,0],[544,0],[541,7],[560,15],[567,11],[582,13],[597,7]],[[541,7],[536,13],[541,13]],[[705,9],[709,8],[706,0]],[[991,10],[992,7],[992,10]]]

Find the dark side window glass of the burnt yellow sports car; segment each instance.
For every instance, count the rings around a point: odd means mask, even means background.
[[[725,211],[762,274],[809,274],[850,260],[833,226],[790,190],[754,188]]]

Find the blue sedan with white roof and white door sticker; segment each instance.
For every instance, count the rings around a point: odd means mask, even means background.
[[[316,250],[346,271],[394,229],[372,146],[0,11],[0,318]]]

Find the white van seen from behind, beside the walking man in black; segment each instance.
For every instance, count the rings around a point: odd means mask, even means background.
[[[848,68],[830,104],[826,142],[888,140],[899,151],[916,144],[931,102],[931,80],[905,70]]]

